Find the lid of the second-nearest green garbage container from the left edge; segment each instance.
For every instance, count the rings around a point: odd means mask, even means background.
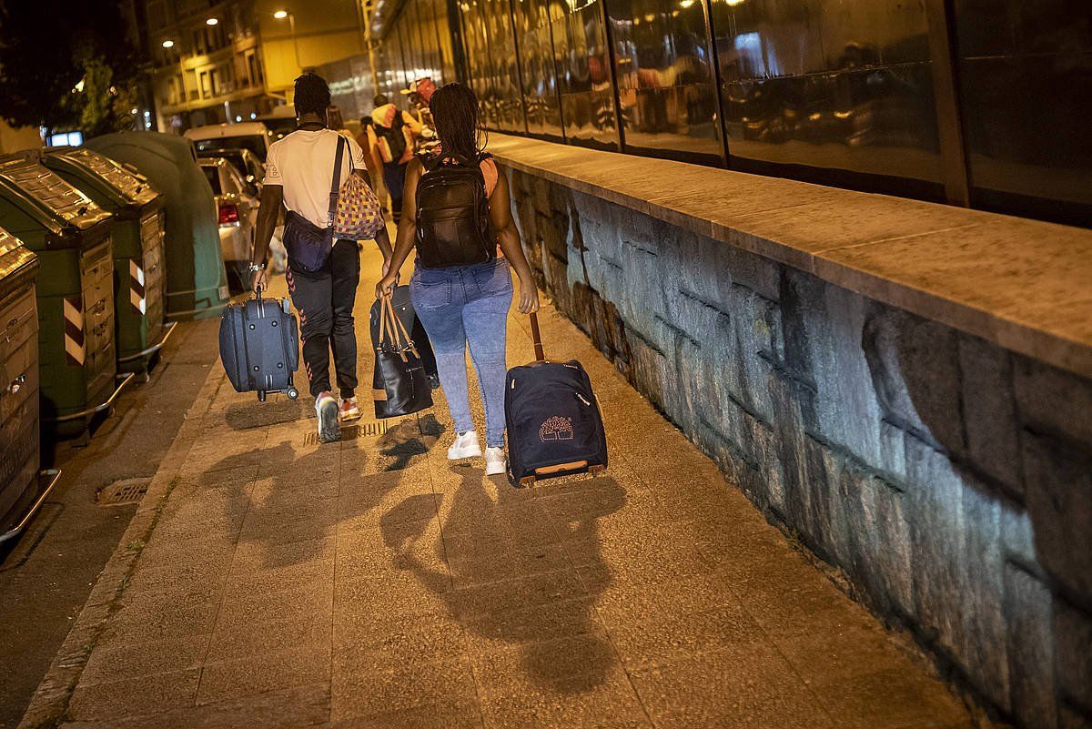
[[[93,227],[110,214],[41,165],[0,157],[0,195],[23,207],[46,227]]]

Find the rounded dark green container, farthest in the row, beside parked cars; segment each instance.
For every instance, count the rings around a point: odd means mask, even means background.
[[[219,316],[228,299],[219,222],[193,143],[175,134],[118,132],[84,147],[131,166],[165,198],[167,319]]]

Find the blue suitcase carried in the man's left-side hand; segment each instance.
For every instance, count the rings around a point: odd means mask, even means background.
[[[257,392],[258,399],[299,391],[292,375],[299,367],[299,332],[288,299],[250,299],[229,303],[219,320],[219,360],[236,392]]]

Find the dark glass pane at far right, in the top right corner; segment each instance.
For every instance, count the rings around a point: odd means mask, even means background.
[[[956,27],[972,201],[1092,225],[1088,0],[957,0]]]

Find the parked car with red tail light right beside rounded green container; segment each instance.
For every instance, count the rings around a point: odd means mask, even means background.
[[[219,248],[228,286],[233,291],[245,291],[249,282],[247,265],[254,241],[258,198],[250,192],[239,171],[223,157],[203,157],[198,164],[216,198]]]

